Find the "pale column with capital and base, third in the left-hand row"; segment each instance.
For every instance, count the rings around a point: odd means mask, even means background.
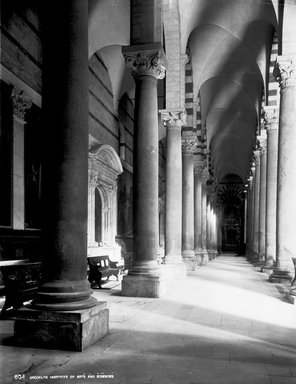
[[[165,271],[172,278],[182,278],[186,266],[182,260],[181,128],[186,124],[186,114],[183,110],[161,113],[167,128]]]

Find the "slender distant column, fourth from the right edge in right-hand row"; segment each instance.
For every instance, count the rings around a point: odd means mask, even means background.
[[[253,257],[254,261],[258,260],[259,254],[259,207],[260,207],[260,151],[254,152],[256,170],[254,181],[254,211],[253,211]]]

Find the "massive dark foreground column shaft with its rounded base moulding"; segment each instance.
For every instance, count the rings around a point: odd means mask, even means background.
[[[81,309],[96,304],[86,274],[88,8],[74,0],[43,12],[45,255],[34,306]]]

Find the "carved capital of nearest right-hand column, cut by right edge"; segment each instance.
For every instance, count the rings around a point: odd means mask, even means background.
[[[296,85],[296,57],[278,56],[274,77],[282,89]]]

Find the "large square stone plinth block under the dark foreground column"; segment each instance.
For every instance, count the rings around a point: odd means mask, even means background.
[[[81,352],[109,332],[109,309],[103,301],[76,311],[23,307],[10,318],[15,320],[14,343],[30,348]]]

